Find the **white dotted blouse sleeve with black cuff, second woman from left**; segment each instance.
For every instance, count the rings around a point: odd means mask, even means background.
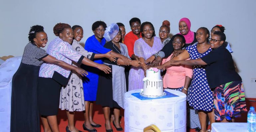
[[[66,42],[67,43],[67,42]],[[84,56],[78,54],[77,52],[72,50],[72,46],[70,44],[65,44],[65,42],[60,43],[60,54],[67,57],[70,60],[80,64]]]

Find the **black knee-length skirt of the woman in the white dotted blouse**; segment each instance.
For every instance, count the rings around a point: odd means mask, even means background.
[[[38,79],[38,103],[42,116],[58,115],[61,84],[52,78]]]

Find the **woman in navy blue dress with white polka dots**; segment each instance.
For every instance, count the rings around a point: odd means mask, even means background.
[[[200,27],[196,31],[197,43],[189,46],[174,60],[198,59],[207,55],[210,51],[210,44],[208,43],[209,30],[205,27]],[[213,95],[210,87],[208,86],[205,66],[193,66],[193,77],[190,88],[188,90],[188,102],[190,108],[198,111],[201,131],[205,132],[206,116],[209,117],[210,123],[213,123],[214,112],[213,109]],[[191,120],[194,118],[191,116]]]

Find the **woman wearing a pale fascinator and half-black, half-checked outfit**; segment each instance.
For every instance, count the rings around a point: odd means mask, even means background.
[[[121,41],[121,30],[119,30],[116,23],[112,23],[105,34],[109,37],[104,37],[107,39],[107,42],[104,47],[112,49],[114,52],[122,54],[124,56],[128,55],[128,49],[125,44],[122,44]],[[114,37],[114,38],[113,38]],[[107,59],[103,60],[105,65],[108,65],[111,68],[111,74],[101,73],[99,76],[98,91],[96,96],[96,104],[99,104],[103,108],[103,113],[105,117],[105,128],[107,132],[112,132],[110,123],[110,108],[114,109],[114,120],[113,125],[117,131],[123,131],[123,128],[120,126],[120,108],[124,108],[124,93],[126,92],[126,80],[125,80],[125,63],[121,58],[118,58],[116,61],[111,62]],[[138,60],[133,60],[130,64],[134,67],[140,66]]]

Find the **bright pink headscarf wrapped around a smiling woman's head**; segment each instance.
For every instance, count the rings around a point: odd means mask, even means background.
[[[186,35],[183,35],[183,34],[182,34],[182,35],[185,37],[186,43],[187,43],[187,44],[190,44],[190,43],[192,43],[193,40],[194,40],[194,32],[192,32],[192,31],[190,30],[191,22],[190,22],[189,18],[186,18],[186,17],[181,18],[181,20],[179,21],[179,23],[180,23],[181,21],[184,21],[184,22],[187,24],[187,26],[188,26],[188,29],[189,29],[188,33],[187,33]],[[181,34],[181,33],[178,33],[178,34]]]

